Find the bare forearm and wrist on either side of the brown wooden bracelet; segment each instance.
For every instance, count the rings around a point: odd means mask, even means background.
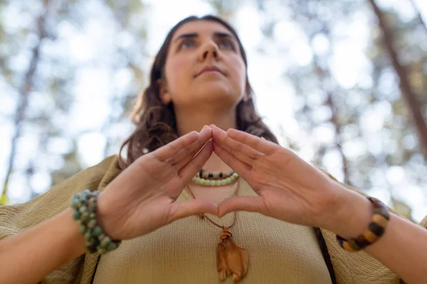
[[[335,234],[346,239],[363,234],[373,214],[372,204],[366,197],[349,193],[345,202],[348,210],[342,212],[341,225],[334,229]],[[427,283],[427,230],[396,214],[390,215],[384,234],[365,251],[406,283]]]

